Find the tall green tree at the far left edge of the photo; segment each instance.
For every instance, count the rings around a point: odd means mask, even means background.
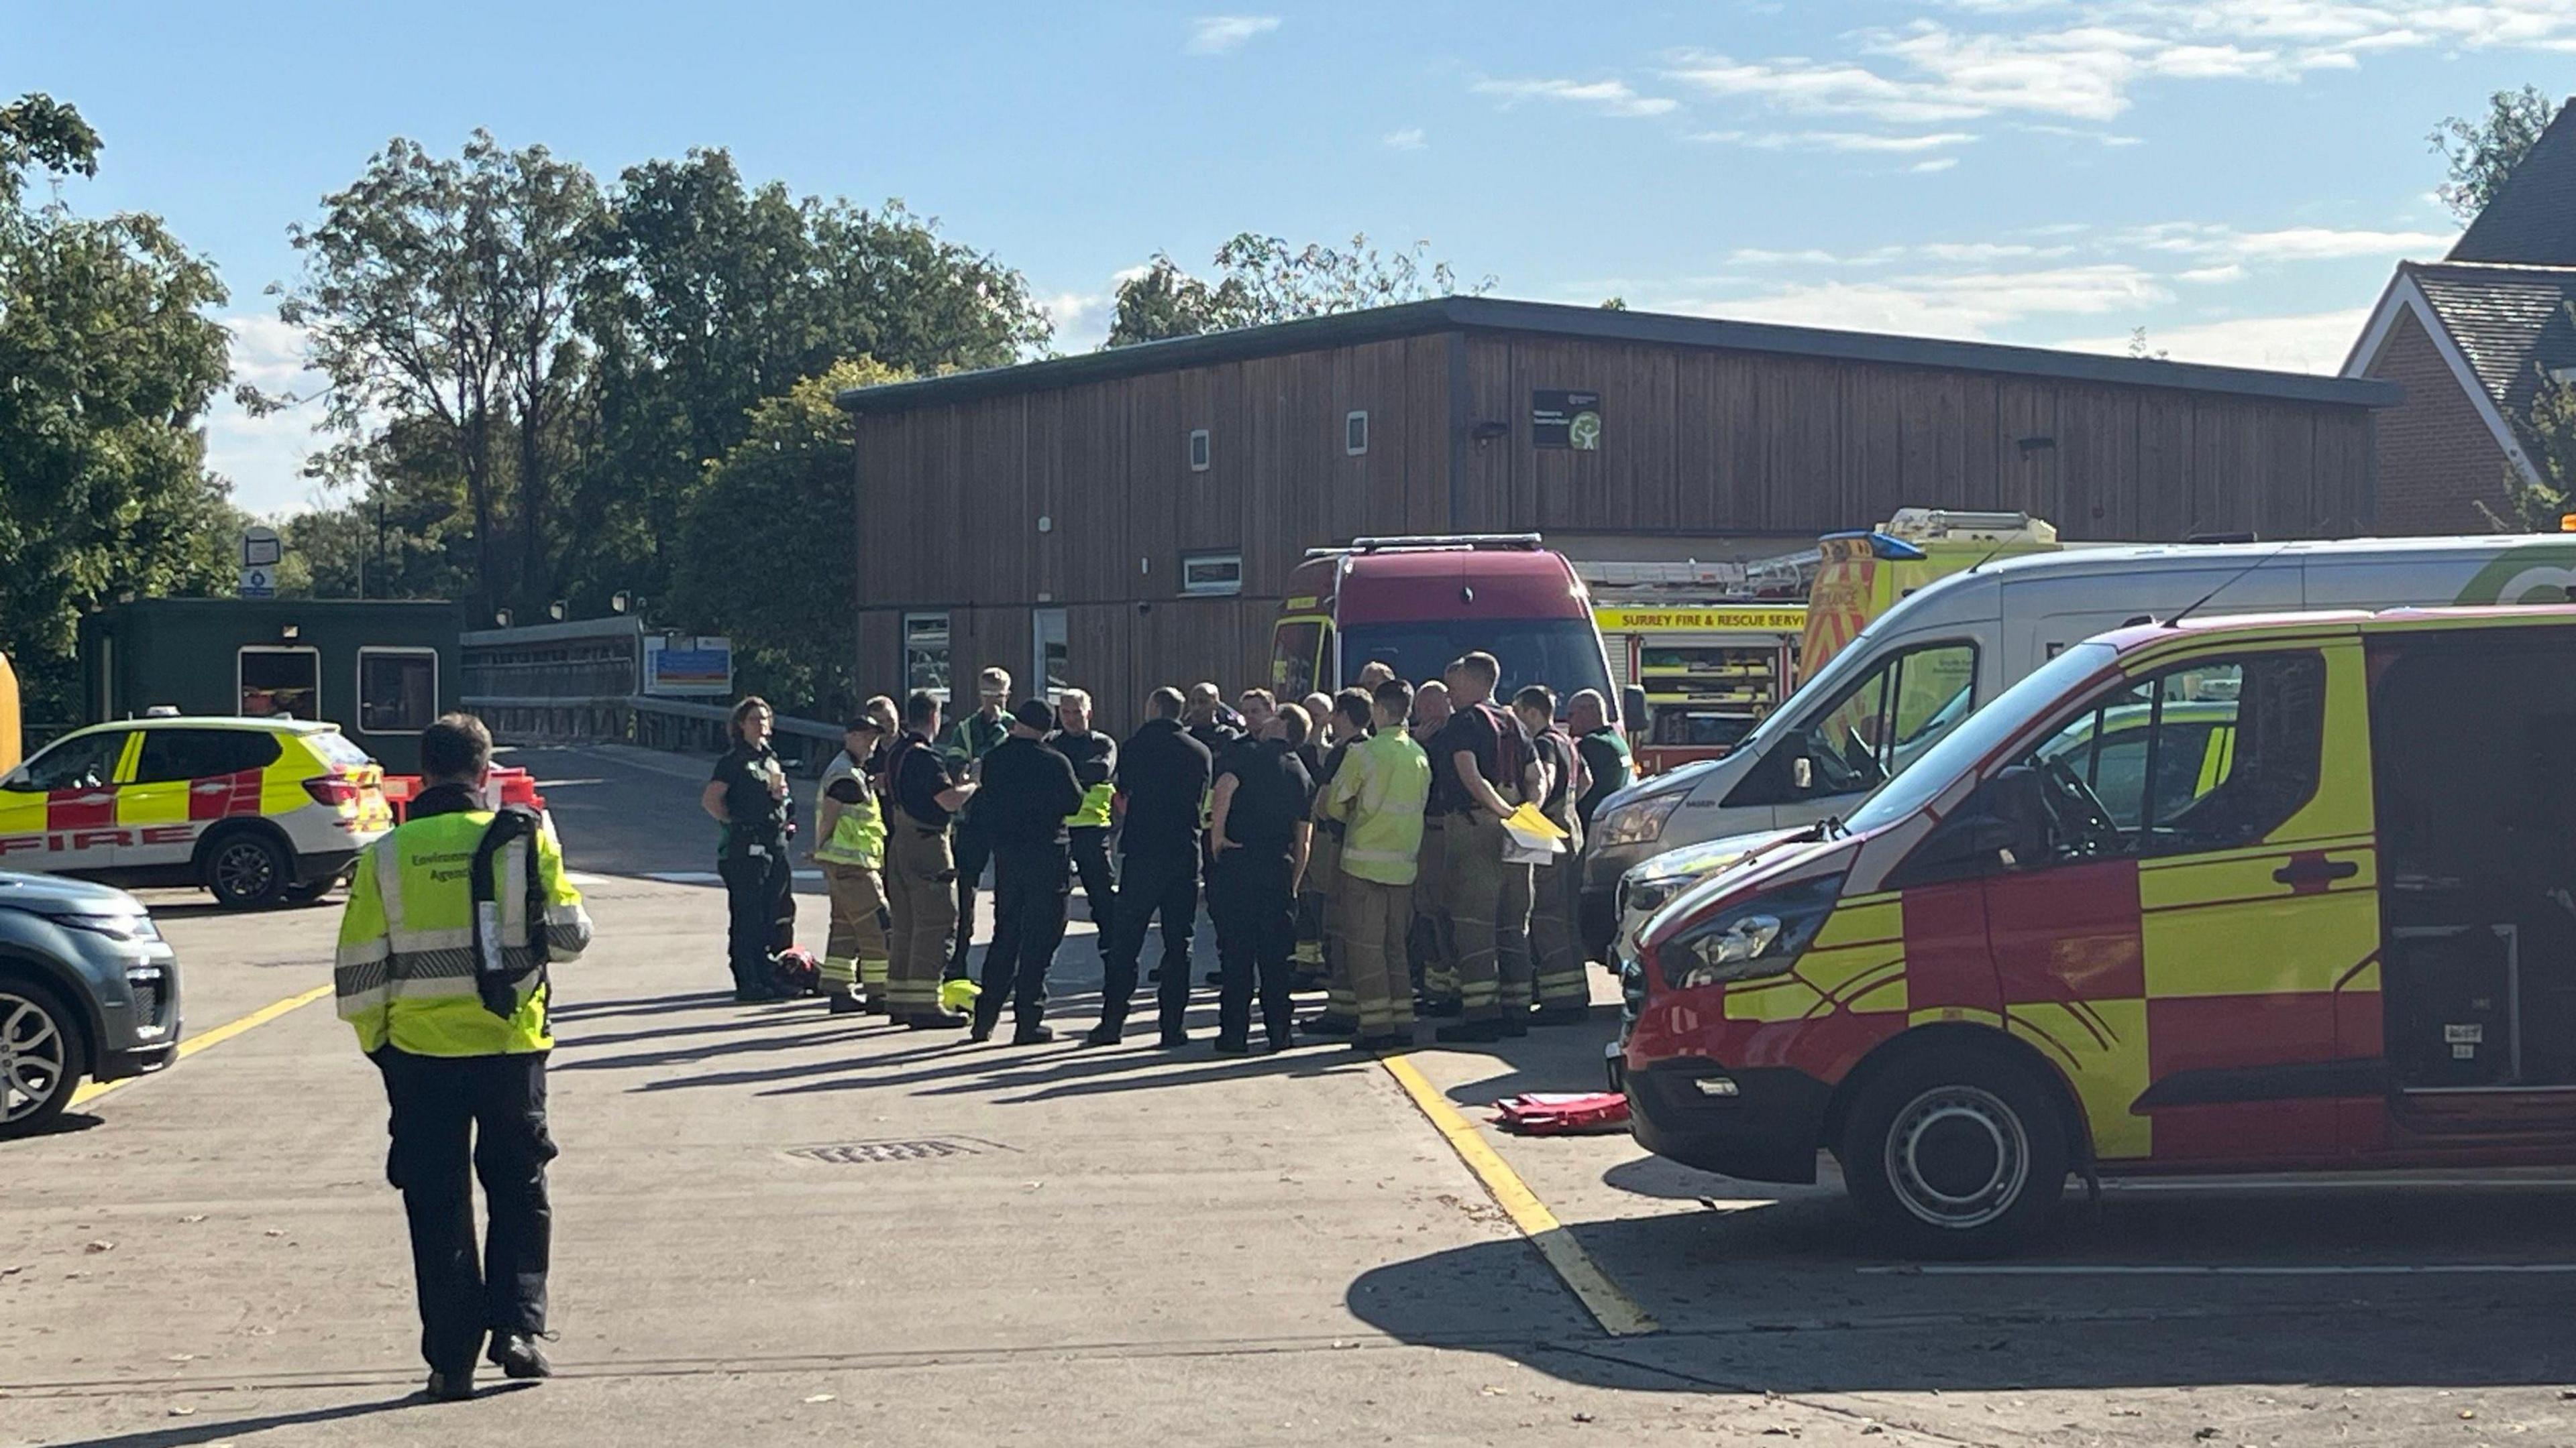
[[[0,106],[0,649],[33,719],[77,714],[80,613],[206,593],[240,523],[201,433],[229,379],[214,265],[157,216],[21,201],[31,170],[95,175],[98,149],[64,103]]]

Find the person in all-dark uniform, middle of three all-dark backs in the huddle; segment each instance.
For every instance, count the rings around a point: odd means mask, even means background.
[[[1190,1041],[1190,930],[1198,922],[1198,809],[1208,799],[1208,747],[1180,724],[1177,688],[1157,688],[1149,719],[1118,750],[1118,910],[1100,946],[1100,1025],[1090,1046],[1115,1046],[1136,997],[1144,930],[1162,917],[1162,1046]]]

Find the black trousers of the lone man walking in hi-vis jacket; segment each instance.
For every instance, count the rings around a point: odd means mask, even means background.
[[[474,1366],[484,1332],[546,1329],[546,1056],[376,1051],[394,1108],[384,1177],[402,1188],[420,1293],[420,1355],[440,1373]],[[474,1180],[492,1226],[474,1255]]]

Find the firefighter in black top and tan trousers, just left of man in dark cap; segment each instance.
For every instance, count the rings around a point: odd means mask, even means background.
[[[940,732],[940,696],[904,701],[904,732],[886,752],[886,907],[894,940],[886,964],[886,1010],[914,1031],[953,1031],[966,1015],[940,1002],[948,940],[958,930],[958,863],[948,819],[974,799],[971,783],[948,773],[930,745]]]

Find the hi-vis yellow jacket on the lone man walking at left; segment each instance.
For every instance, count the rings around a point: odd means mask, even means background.
[[[340,1020],[358,1028],[358,1046],[392,1043],[415,1056],[518,1056],[554,1049],[546,1025],[546,987],[528,976],[518,1010],[502,1020],[474,989],[474,899],[466,873],[487,809],[461,809],[412,819],[358,853],[358,873],[340,917],[332,987]],[[531,966],[531,925],[546,933],[546,953],[569,961],[590,946],[590,915],[564,881],[564,853],[551,822],[533,837],[536,879],[546,917],[528,920],[531,840],[520,837],[492,861],[500,879],[500,943],[507,966]]]

